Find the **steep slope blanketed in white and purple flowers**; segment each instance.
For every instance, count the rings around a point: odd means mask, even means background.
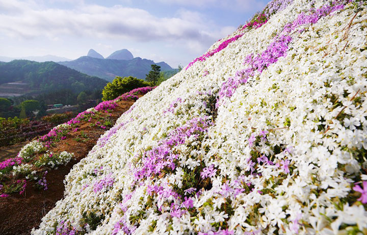
[[[366,13],[272,1],[125,112],[33,234],[366,233]]]

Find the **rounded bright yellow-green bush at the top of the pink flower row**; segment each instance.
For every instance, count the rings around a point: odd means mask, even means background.
[[[108,83],[102,90],[103,101],[112,100],[132,89],[149,86],[150,84],[142,79],[134,77],[116,77]]]

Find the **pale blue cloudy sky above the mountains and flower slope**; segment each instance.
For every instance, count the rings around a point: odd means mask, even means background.
[[[0,0],[0,56],[76,59],[94,49],[186,66],[269,0]]]

